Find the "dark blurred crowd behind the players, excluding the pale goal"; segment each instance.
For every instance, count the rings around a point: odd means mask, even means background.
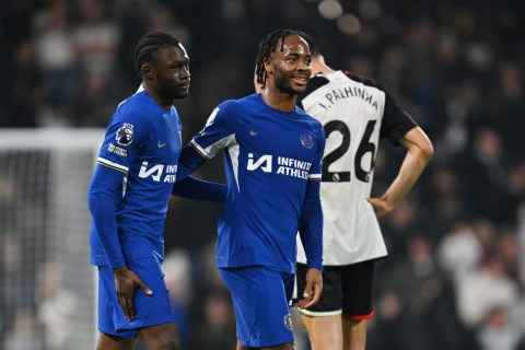
[[[178,105],[188,140],[214,105],[253,91],[265,33],[304,30],[331,66],[382,83],[436,150],[416,190],[382,222],[390,255],[377,271],[369,349],[525,349],[525,4],[341,1],[353,19],[348,31],[319,14],[319,1],[8,2],[0,126],[104,127],[137,88],[137,38],[162,30],[191,58],[191,96]],[[382,148],[375,194],[402,156]],[[220,161],[200,174],[220,179]],[[170,212],[166,281],[185,349],[234,348],[229,295],[213,264],[220,210],[180,199]],[[9,327],[36,322],[22,314]]]

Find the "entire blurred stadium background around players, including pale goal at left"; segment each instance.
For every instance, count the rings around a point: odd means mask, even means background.
[[[524,16],[523,1],[488,0],[2,2],[0,349],[93,349],[93,128],[137,86],[137,38],[163,30],[187,46],[191,96],[177,108],[188,140],[215,104],[252,92],[257,43],[283,26],[312,33],[334,67],[380,81],[436,149],[382,222],[390,257],[369,349],[525,349]],[[401,159],[382,148],[375,192]],[[199,175],[221,179],[221,166]],[[220,210],[179,199],[170,212],[166,280],[185,349],[233,349],[212,258]]]

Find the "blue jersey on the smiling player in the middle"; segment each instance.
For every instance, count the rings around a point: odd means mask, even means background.
[[[323,127],[301,108],[285,113],[260,94],[220,104],[191,145],[224,150],[228,198],[218,224],[219,267],[295,270],[295,236],[308,180],[320,179]]]

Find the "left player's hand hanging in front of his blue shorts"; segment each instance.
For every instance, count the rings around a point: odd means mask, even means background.
[[[153,292],[144,282],[130,269],[121,267],[114,271],[115,284],[117,287],[118,303],[122,307],[124,314],[129,319],[135,318],[133,294],[137,288],[140,288],[145,295],[151,296]]]

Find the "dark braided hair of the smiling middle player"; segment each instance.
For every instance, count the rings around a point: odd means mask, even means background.
[[[257,57],[255,58],[255,67],[256,67],[256,74],[257,74],[257,82],[259,84],[266,85],[266,78],[267,78],[267,72],[265,68],[265,61],[269,59],[271,52],[275,52],[277,50],[277,44],[279,40],[281,42],[281,50],[282,50],[282,45],[284,44],[284,39],[288,36],[291,35],[298,35],[304,38],[310,46],[310,36],[305,34],[304,32],[296,31],[296,30],[276,30],[269,34],[267,34],[262,40],[259,43],[259,51],[257,52]]]

